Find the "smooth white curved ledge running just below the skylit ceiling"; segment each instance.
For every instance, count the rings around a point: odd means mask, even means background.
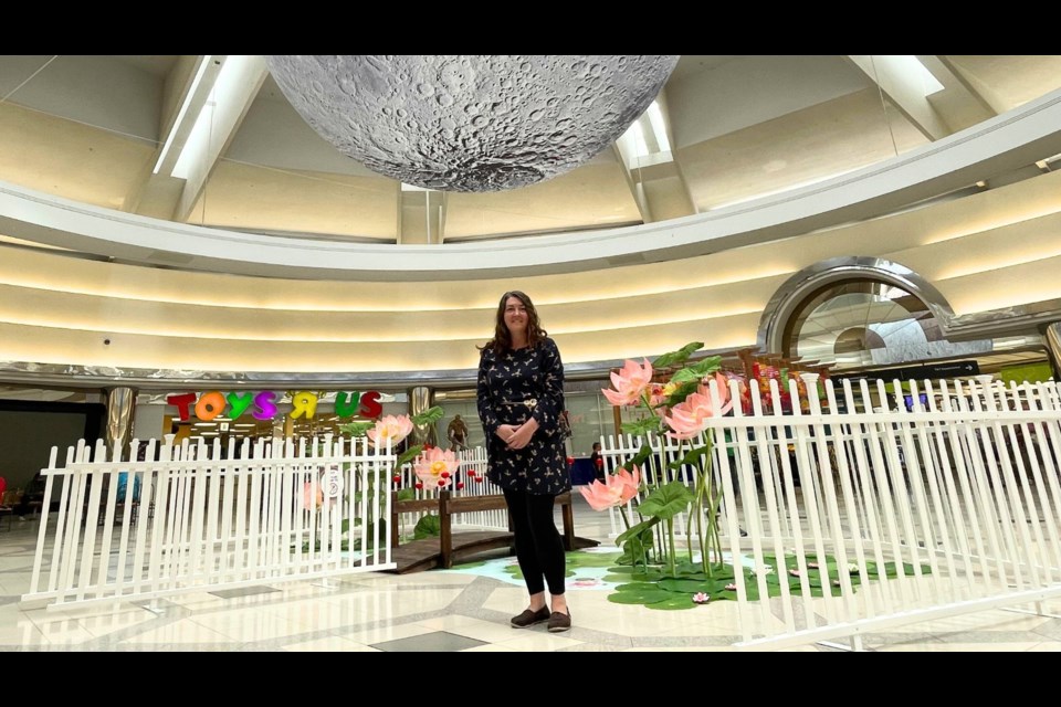
[[[529,276],[664,262],[881,215],[1061,152],[1061,91],[854,172],[640,226],[439,245],[241,233],[92,207],[0,182],[0,232],[146,265],[364,281]],[[180,247],[175,249],[174,244]]]

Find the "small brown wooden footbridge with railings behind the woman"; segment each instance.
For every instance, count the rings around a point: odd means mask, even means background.
[[[575,511],[571,508],[570,492],[560,494],[556,497],[556,504],[560,506],[560,516],[564,519],[564,549],[571,551],[576,548],[593,547],[599,545],[596,540],[575,537]],[[512,535],[512,518],[508,518],[508,532],[461,532],[469,541],[462,542],[459,547],[453,546],[453,516],[461,513],[475,513],[480,510],[501,510],[507,508],[505,497],[500,494],[490,496],[458,496],[454,497],[451,492],[439,492],[438,498],[427,498],[422,500],[398,500],[398,492],[391,492],[391,516],[390,516],[390,541],[391,547],[399,546],[399,517],[403,513],[438,513],[439,514],[439,567],[450,569],[458,557],[474,555],[490,549],[508,548],[510,552],[514,550]],[[432,539],[433,540],[433,539]],[[422,542],[414,540],[413,542]],[[406,547],[412,544],[407,544]],[[410,560],[407,569],[399,568],[399,572],[413,571],[416,569],[427,569],[422,567],[430,561],[434,553],[423,556],[417,560]]]

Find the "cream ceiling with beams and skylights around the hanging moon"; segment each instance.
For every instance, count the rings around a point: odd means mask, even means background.
[[[403,189],[338,152],[295,113],[260,56],[2,56],[0,180],[104,209],[276,236],[443,246],[563,236],[813,183],[1061,87],[1061,56],[916,59],[938,82],[934,92],[908,73],[914,57],[682,56],[659,115],[639,120],[640,147],[623,138],[523,189],[442,193]],[[207,141],[193,147],[200,113]],[[1027,176],[1048,169],[1043,159]],[[48,243],[32,232],[0,238]],[[182,265],[170,261],[161,264]]]

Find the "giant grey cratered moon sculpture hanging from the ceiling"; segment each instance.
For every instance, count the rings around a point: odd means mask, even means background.
[[[369,169],[447,191],[502,191],[590,160],[677,63],[660,56],[266,56],[295,110]]]

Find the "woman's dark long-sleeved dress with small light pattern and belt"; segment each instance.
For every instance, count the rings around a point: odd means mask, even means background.
[[[530,402],[533,401],[533,402]],[[479,419],[486,433],[486,476],[502,488],[555,496],[571,488],[567,449],[560,432],[564,363],[550,338],[533,347],[496,356],[485,348],[479,359]],[[503,424],[522,424],[529,415],[538,429],[529,444],[510,450],[496,435]]]

